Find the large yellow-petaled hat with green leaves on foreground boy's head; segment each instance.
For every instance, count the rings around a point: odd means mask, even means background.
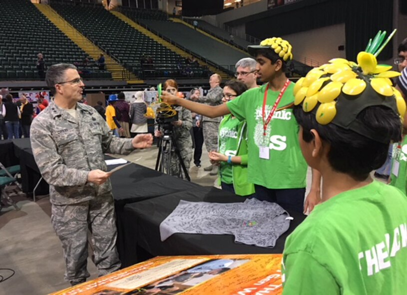
[[[304,112],[315,114],[321,125],[332,123],[375,141],[389,142],[361,124],[358,114],[369,106],[383,106],[404,118],[405,100],[390,80],[400,73],[391,71],[391,65],[378,64],[376,59],[395,32],[383,42],[386,31],[379,31],[365,51],[359,52],[358,63],[334,58],[312,69],[296,83],[294,104],[302,104]]]

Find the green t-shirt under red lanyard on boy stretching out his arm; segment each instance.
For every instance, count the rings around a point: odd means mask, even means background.
[[[294,101],[295,83],[290,83],[278,108]],[[299,125],[292,109],[275,112],[263,136],[262,106],[266,85],[250,89],[229,101],[230,112],[247,121],[248,174],[250,183],[269,189],[292,189],[306,186],[307,163],[298,141]],[[266,118],[280,91],[268,90]],[[269,160],[260,158],[260,147],[267,147]]]

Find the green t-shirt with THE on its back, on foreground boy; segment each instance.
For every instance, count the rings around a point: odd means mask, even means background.
[[[284,295],[407,292],[407,197],[374,181],[315,207],[287,238]]]

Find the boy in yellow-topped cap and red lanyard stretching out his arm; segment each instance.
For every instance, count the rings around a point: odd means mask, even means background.
[[[310,194],[304,206],[307,163],[298,142],[299,126],[292,114],[294,85],[285,74],[293,55],[281,38],[249,46],[256,57],[257,75],[265,84],[218,106],[182,101],[163,93],[162,99],[209,117],[232,113],[246,120],[248,131],[248,181],[255,184],[255,197],[276,202],[286,210],[312,210],[321,201],[320,174],[313,170]],[[304,208],[305,207],[305,208]]]

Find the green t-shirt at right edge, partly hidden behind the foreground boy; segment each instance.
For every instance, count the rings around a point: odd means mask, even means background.
[[[407,136],[402,143],[395,144],[393,149],[393,165],[390,185],[397,187],[406,195],[406,169],[407,169]]]

